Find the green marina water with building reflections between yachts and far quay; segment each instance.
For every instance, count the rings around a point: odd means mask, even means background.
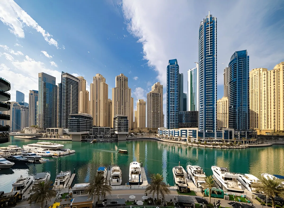
[[[9,143],[1,144],[22,146],[43,140],[25,140],[11,137]],[[131,140],[126,142],[71,142],[50,141],[74,149],[73,155],[51,158],[44,164],[14,165],[12,169],[0,170],[0,191],[10,192],[12,183],[20,175],[33,175],[37,172],[50,171],[50,180],[54,181],[60,170],[75,169],[75,183],[89,182],[98,167],[118,165],[122,169],[122,184],[128,182],[129,164],[132,161],[143,163],[147,178],[152,173],[163,174],[167,184],[173,185],[172,168],[178,163],[186,166],[198,165],[206,175],[212,174],[211,166],[227,167],[231,172],[250,173],[256,177],[267,172],[284,175],[284,145],[249,149],[211,149],[189,147],[156,140]],[[118,153],[118,149],[127,149],[128,155]]]

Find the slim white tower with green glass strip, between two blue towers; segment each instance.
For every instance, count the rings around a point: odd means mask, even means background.
[[[187,92],[188,92],[188,111],[199,111],[199,68],[196,67],[187,71]]]

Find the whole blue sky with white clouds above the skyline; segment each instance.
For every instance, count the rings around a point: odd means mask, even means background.
[[[61,71],[84,76],[87,88],[100,73],[111,88],[128,76],[134,100],[155,82],[166,88],[166,66],[177,59],[184,73],[198,60],[199,24],[217,17],[218,98],[231,55],[248,50],[250,70],[284,61],[283,1],[0,1],[0,76],[16,90],[37,90],[37,73],[60,82]],[[165,91],[165,90],[164,90]],[[164,96],[165,101],[166,96]],[[165,102],[164,102],[165,104]],[[135,107],[134,107],[135,108]]]

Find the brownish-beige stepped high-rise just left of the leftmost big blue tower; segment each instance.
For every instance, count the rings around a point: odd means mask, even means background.
[[[163,86],[160,82],[156,82],[152,90],[147,93],[147,127],[163,127],[163,117]]]

